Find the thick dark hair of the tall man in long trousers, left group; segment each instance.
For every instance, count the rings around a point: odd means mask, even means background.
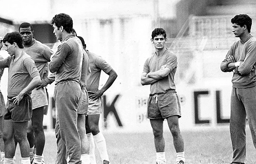
[[[57,26],[58,30],[60,26],[63,26],[63,29],[67,33],[72,32],[73,20],[68,14],[64,14],[64,13],[56,14],[50,21],[50,24],[54,24],[54,23]]]

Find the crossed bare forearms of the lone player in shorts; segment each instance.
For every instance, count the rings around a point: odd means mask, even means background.
[[[143,72],[141,75],[141,85],[151,85],[156,83],[158,80],[166,77],[170,73],[170,69],[166,67],[166,65],[161,66],[160,70],[155,72]]]

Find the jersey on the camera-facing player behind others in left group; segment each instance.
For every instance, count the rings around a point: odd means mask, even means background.
[[[34,44],[31,46],[24,45],[24,51],[28,53],[35,61],[35,66],[43,79],[46,70],[48,70],[48,62],[50,62],[53,51],[45,44],[34,39]]]

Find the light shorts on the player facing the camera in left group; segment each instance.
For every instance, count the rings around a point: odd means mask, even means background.
[[[33,89],[31,93],[32,98],[32,109],[34,110],[37,107],[47,106],[48,100],[46,95],[46,89],[45,87],[42,87],[38,90]]]

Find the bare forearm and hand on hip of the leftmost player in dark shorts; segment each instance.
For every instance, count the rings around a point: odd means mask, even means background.
[[[37,85],[40,84],[40,82],[41,78],[39,75],[32,78],[29,85],[25,87],[22,91],[20,91],[20,93],[17,96],[12,98],[12,100],[14,100],[13,103],[19,105],[19,102],[23,99],[23,96],[28,92],[32,91]]]

